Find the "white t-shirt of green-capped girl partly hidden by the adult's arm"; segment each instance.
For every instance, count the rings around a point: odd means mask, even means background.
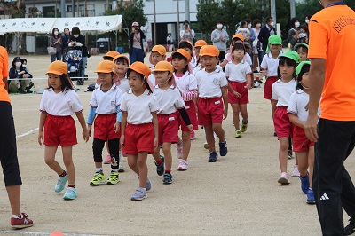
[[[305,110],[310,101],[310,95],[304,90],[296,90],[292,93],[288,102],[288,113],[296,114],[298,120],[306,122],[308,118],[308,111]],[[320,107],[318,108],[318,115],[320,114]]]

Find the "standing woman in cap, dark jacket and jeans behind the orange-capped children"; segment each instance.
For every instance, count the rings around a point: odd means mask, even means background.
[[[146,39],[146,35],[140,30],[138,22],[133,22],[130,33],[130,64],[135,61],[144,63],[143,39]]]

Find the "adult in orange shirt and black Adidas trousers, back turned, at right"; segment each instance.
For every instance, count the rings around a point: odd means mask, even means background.
[[[355,81],[355,12],[340,0],[319,3],[325,9],[309,23],[312,64],[305,131],[317,141],[313,188],[323,235],[350,235],[355,232],[355,188],[343,162],[355,146],[355,83],[348,83]],[[345,228],[342,207],[350,216]]]

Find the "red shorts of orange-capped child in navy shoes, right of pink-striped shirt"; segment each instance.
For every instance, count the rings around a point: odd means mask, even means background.
[[[223,105],[222,97],[219,98],[199,98],[197,102],[199,124],[203,126],[212,123],[222,123]]]

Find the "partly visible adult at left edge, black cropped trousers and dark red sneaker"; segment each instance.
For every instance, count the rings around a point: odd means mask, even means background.
[[[8,94],[9,76],[7,51],[0,46],[0,161],[3,167],[4,182],[12,208],[12,228],[25,228],[33,225],[32,220],[20,211],[20,169],[17,158],[15,126],[12,106]]]

